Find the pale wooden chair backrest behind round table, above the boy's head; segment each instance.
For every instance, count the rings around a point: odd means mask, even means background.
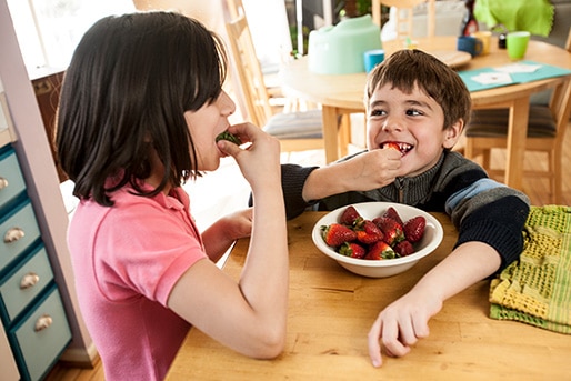
[[[373,22],[378,26],[381,24],[381,6],[394,7],[397,9],[397,39],[404,39],[407,37],[412,37],[412,18],[413,11],[412,9],[421,4],[423,2],[428,2],[428,13],[427,13],[427,37],[433,37],[435,34],[435,18],[437,18],[437,4],[435,0],[372,0],[372,17]]]

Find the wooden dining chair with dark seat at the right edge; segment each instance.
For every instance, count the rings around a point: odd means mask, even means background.
[[[565,49],[571,53],[571,28]],[[563,139],[571,114],[571,78],[553,89],[549,104],[530,104],[525,151],[547,153],[548,169],[524,170],[524,177],[547,177],[551,200],[562,200]],[[508,146],[508,109],[473,110],[465,128],[464,156],[469,159],[482,157],[482,167],[491,176],[504,174],[504,170],[491,168],[491,150]]]

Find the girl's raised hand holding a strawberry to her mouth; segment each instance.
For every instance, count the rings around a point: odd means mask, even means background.
[[[234,158],[246,180],[256,187],[258,182],[280,179],[280,142],[252,123],[231,126],[229,132],[238,136],[242,142],[251,142],[247,148],[220,140],[220,150]]]

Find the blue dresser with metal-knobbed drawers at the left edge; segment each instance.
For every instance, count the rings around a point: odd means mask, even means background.
[[[0,318],[21,380],[42,379],[71,341],[58,284],[10,144],[0,148]]]

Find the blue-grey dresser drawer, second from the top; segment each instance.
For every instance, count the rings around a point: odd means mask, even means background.
[[[17,237],[13,241],[7,240],[7,235],[11,233],[16,233]],[[39,237],[40,228],[30,201],[22,203],[0,220],[0,272]]]

